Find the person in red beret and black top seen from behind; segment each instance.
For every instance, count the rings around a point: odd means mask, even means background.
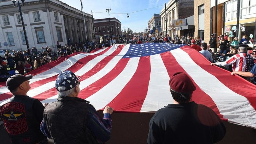
[[[148,144],[210,144],[220,141],[226,128],[216,113],[191,101],[196,89],[182,72],[169,81],[173,104],[158,110],[149,122]]]

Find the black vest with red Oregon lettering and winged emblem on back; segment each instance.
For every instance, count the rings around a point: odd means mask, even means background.
[[[14,95],[1,105],[1,116],[12,143],[35,144],[45,136],[33,111],[35,99],[24,95]]]

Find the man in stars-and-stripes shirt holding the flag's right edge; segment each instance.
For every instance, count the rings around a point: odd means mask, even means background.
[[[239,44],[238,54],[231,56],[227,61],[211,63],[211,65],[226,66],[232,64],[232,71],[250,71],[254,66],[254,59],[247,52],[248,45]]]

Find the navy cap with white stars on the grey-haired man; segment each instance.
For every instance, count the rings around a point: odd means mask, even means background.
[[[65,86],[66,89],[63,91],[68,91],[71,88],[74,88],[80,81],[80,77],[76,76],[72,71],[66,70],[60,73],[56,79],[55,87],[58,90],[59,86]]]

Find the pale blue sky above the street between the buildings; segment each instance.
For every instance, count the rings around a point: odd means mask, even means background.
[[[66,4],[81,10],[80,0],[61,0]],[[85,13],[92,12],[104,12],[104,13],[93,13],[93,18],[102,19],[108,18],[106,9],[111,8],[110,17],[119,19],[122,23],[122,30],[135,30],[141,32],[146,29],[148,21],[152,18],[154,13],[160,13],[161,9],[164,8],[164,3],[168,3],[169,0],[83,0],[83,10]],[[160,6],[162,5],[162,6]],[[159,7],[156,7],[159,6]],[[155,7],[155,8],[152,8]],[[148,9],[151,8],[151,9]],[[148,9],[148,10],[144,10]],[[92,12],[91,12],[92,10]],[[131,13],[134,11],[139,11]],[[130,13],[129,18],[127,14],[116,14],[116,13]]]

